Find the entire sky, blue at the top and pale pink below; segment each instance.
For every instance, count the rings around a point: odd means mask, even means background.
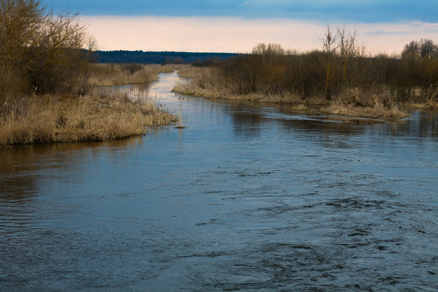
[[[438,42],[437,0],[43,0],[79,12],[101,50],[250,52],[259,42],[321,49],[326,26],[356,30],[369,53]]]

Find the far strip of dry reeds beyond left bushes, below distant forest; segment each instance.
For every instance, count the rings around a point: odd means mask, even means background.
[[[173,72],[182,65],[160,64],[92,64],[90,86],[113,86],[157,80],[158,73]]]

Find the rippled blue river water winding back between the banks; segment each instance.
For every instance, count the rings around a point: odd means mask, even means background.
[[[438,114],[354,125],[170,93],[186,129],[0,149],[0,290],[438,289]]]

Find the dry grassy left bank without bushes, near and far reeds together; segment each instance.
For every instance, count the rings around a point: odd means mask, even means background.
[[[188,65],[91,64],[84,96],[32,95],[0,106],[0,147],[32,143],[106,141],[145,133],[145,127],[177,123],[181,117],[144,99],[125,93],[103,92],[100,86],[140,84],[158,74]]]

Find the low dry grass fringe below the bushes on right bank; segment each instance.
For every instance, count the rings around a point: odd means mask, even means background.
[[[206,97],[210,99],[228,99],[234,101],[260,101],[295,105],[295,110],[300,112],[313,112],[333,114],[345,117],[360,117],[372,122],[372,119],[402,119],[409,117],[407,108],[413,104],[400,104],[391,100],[388,91],[380,93],[366,92],[364,90],[345,90],[341,95],[334,95],[327,100],[324,95],[313,95],[302,99],[300,95],[291,92],[280,93],[247,93],[236,94],[223,80],[220,69],[215,67],[192,67],[184,69],[184,76],[191,80],[182,81],[175,85],[175,92],[184,95]],[[433,107],[435,104],[415,104],[417,107]],[[350,121],[350,119],[344,119]]]

